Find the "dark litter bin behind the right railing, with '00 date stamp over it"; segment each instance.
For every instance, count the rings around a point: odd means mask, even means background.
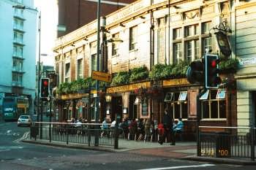
[[[227,158],[231,155],[230,134],[227,132],[216,132],[216,157]]]

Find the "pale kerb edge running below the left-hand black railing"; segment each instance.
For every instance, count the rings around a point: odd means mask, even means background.
[[[56,144],[56,143],[49,143],[49,142],[39,142],[39,141],[31,141],[31,140],[22,140],[21,142],[30,143],[30,144],[41,144],[53,147],[68,147],[72,149],[80,149],[80,150],[97,150],[97,151],[104,151],[104,152],[118,152],[118,150],[114,150],[111,148],[105,147],[86,147],[86,146],[79,146],[78,144]]]

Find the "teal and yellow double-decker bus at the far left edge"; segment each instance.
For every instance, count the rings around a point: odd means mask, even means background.
[[[20,115],[29,115],[29,98],[7,96],[3,98],[2,114],[4,120],[18,120]]]

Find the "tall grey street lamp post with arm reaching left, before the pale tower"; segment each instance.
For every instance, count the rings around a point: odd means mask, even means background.
[[[26,7],[24,5],[14,5],[12,6],[15,9],[29,9],[36,11],[38,13],[38,33],[39,33],[39,45],[38,45],[38,72],[37,72],[37,122],[39,122],[39,108],[40,108],[40,97],[39,97],[39,87],[40,87],[40,69],[41,69],[41,12],[37,9]],[[42,114],[41,114],[41,122],[42,122]]]

